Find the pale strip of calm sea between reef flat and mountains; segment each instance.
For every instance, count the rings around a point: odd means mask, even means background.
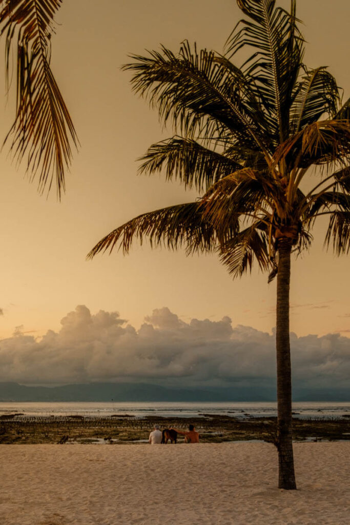
[[[277,403],[125,403],[125,402],[0,402],[0,415],[23,413],[26,416],[82,415],[104,417],[130,414],[135,417],[198,417],[203,414],[221,414],[239,418],[276,416]],[[350,403],[293,403],[294,417],[340,418],[350,417]]]

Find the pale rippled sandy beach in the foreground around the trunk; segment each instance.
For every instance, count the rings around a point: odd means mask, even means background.
[[[349,525],[350,442],[0,445],[2,525]]]

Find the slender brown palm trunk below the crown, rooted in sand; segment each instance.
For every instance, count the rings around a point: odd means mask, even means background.
[[[292,445],[292,379],[289,342],[289,286],[292,241],[279,239],[277,274],[277,448],[281,489],[296,489]]]

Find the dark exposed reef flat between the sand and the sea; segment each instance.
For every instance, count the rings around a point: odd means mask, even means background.
[[[236,419],[222,415],[204,415],[193,419],[148,416],[144,418],[115,414],[108,418],[83,416],[28,417],[9,414],[0,419],[0,444],[44,443],[142,443],[154,424],[161,429],[174,426],[186,429],[193,423],[201,443],[221,443],[258,439],[275,440],[276,418]],[[294,419],[294,440],[350,439],[349,419]],[[178,436],[183,443],[183,436]]]

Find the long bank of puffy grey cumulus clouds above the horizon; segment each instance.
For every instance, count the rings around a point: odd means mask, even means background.
[[[58,332],[36,339],[17,330],[0,341],[0,381],[65,384],[143,381],[172,386],[274,385],[274,335],[221,321],[184,322],[153,310],[139,330],[118,312],[77,306]],[[293,379],[304,386],[348,386],[350,339],[291,334]]]

